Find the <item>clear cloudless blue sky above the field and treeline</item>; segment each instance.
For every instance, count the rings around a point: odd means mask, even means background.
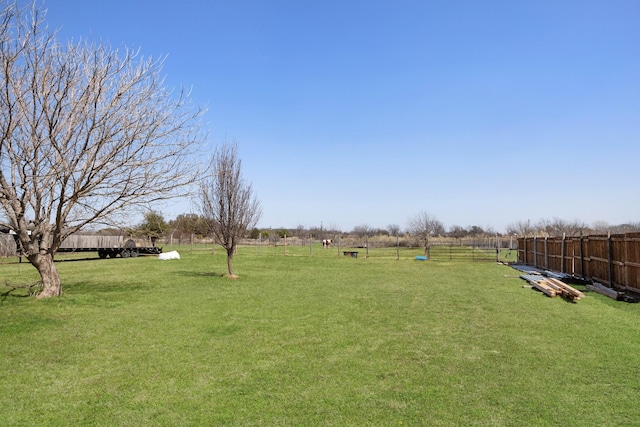
[[[261,227],[640,221],[640,2],[49,0],[167,55]],[[172,204],[171,219],[189,202]]]

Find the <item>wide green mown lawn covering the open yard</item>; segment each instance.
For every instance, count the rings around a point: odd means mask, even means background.
[[[1,424],[640,424],[640,305],[358,250],[59,262],[62,297],[0,297]]]

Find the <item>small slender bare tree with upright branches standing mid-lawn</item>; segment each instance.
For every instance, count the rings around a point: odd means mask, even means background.
[[[251,184],[242,178],[242,161],[236,143],[223,144],[211,156],[207,177],[200,184],[200,211],[213,224],[213,236],[227,251],[227,268],[233,271],[238,241],[258,223],[260,202]]]

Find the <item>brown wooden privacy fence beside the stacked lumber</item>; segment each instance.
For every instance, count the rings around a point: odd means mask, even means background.
[[[640,233],[519,238],[518,262],[640,294]]]

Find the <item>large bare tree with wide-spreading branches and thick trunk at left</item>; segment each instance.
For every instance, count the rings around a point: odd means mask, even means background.
[[[70,234],[193,182],[201,111],[165,88],[162,61],[102,43],[61,44],[35,3],[0,12],[0,211],[60,295],[53,263]]]

